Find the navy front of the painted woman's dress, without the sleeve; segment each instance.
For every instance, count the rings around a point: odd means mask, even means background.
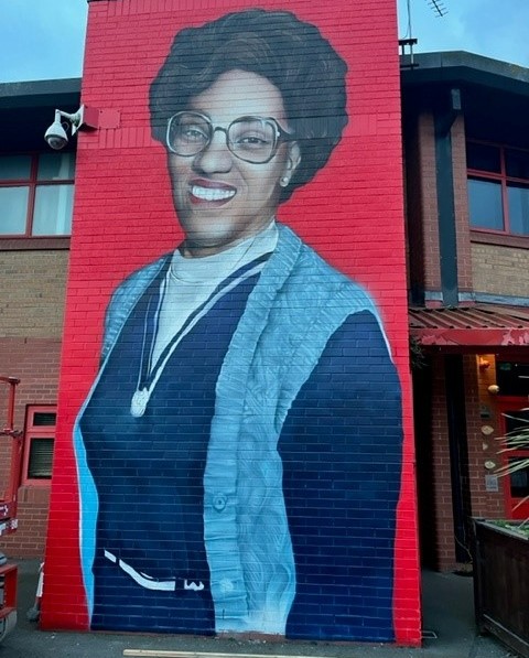
[[[145,327],[152,334],[164,276],[153,281],[125,324],[82,419],[99,498],[91,628],[212,634],[204,466],[215,385],[258,276],[226,293],[181,341],[144,414],[134,418],[130,406],[142,368],[143,335]],[[174,587],[145,589],[118,561],[152,580],[153,587],[172,582]]]

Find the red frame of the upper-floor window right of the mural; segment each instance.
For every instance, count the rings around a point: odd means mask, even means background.
[[[493,147],[499,151],[499,165],[500,171],[489,172],[478,169],[472,169],[466,166],[466,181],[467,181],[467,194],[468,194],[468,181],[471,179],[478,181],[490,181],[500,184],[501,190],[501,212],[504,218],[504,229],[485,228],[479,226],[473,226],[471,224],[469,208],[468,208],[468,226],[472,234],[472,239],[477,242],[493,242],[496,245],[505,245],[512,247],[528,247],[529,246],[529,233],[511,233],[510,231],[510,216],[509,216],[509,204],[508,204],[508,183],[521,183],[527,185],[529,190],[529,177],[520,179],[517,176],[507,175],[506,169],[506,151],[522,151],[529,157],[528,149],[521,149],[518,147],[511,147],[509,144],[498,144],[496,142],[489,142],[478,139],[467,139],[468,144],[481,144],[486,147]]]

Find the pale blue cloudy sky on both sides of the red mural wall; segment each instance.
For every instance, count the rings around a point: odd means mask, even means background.
[[[399,37],[417,37],[417,53],[468,51],[529,67],[529,0],[397,2]],[[87,0],[0,0],[0,83],[80,77],[87,12]]]

